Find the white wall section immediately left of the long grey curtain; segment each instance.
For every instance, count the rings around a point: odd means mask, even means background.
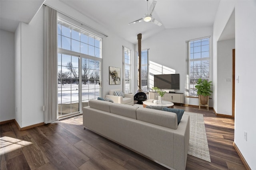
[[[42,8],[29,24],[20,23],[15,41],[15,119],[20,127],[26,127],[44,122]]]

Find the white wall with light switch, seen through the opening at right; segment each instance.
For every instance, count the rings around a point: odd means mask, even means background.
[[[235,48],[235,39],[218,41],[217,45],[218,109],[215,111],[218,114],[232,115],[232,49]]]

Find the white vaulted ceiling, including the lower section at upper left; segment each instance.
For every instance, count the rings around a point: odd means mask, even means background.
[[[136,44],[138,33],[142,40],[169,28],[212,26],[220,0],[156,0],[152,22],[128,23],[147,12],[146,0],[60,0],[85,16],[107,27],[118,36]],[[148,7],[152,0],[148,1]],[[14,32],[20,21],[29,23],[44,0],[0,0],[1,29]]]

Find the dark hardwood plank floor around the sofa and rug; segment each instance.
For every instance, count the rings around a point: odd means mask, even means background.
[[[245,170],[234,141],[234,119],[212,110],[174,106],[204,115],[211,162],[188,155],[188,170]],[[0,125],[1,170],[161,169],[163,166],[109,141],[82,126],[82,115],[19,131],[15,123]]]

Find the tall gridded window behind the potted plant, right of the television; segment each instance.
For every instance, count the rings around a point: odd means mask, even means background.
[[[210,79],[210,37],[187,41],[187,49],[189,96],[197,96],[198,79]]]

